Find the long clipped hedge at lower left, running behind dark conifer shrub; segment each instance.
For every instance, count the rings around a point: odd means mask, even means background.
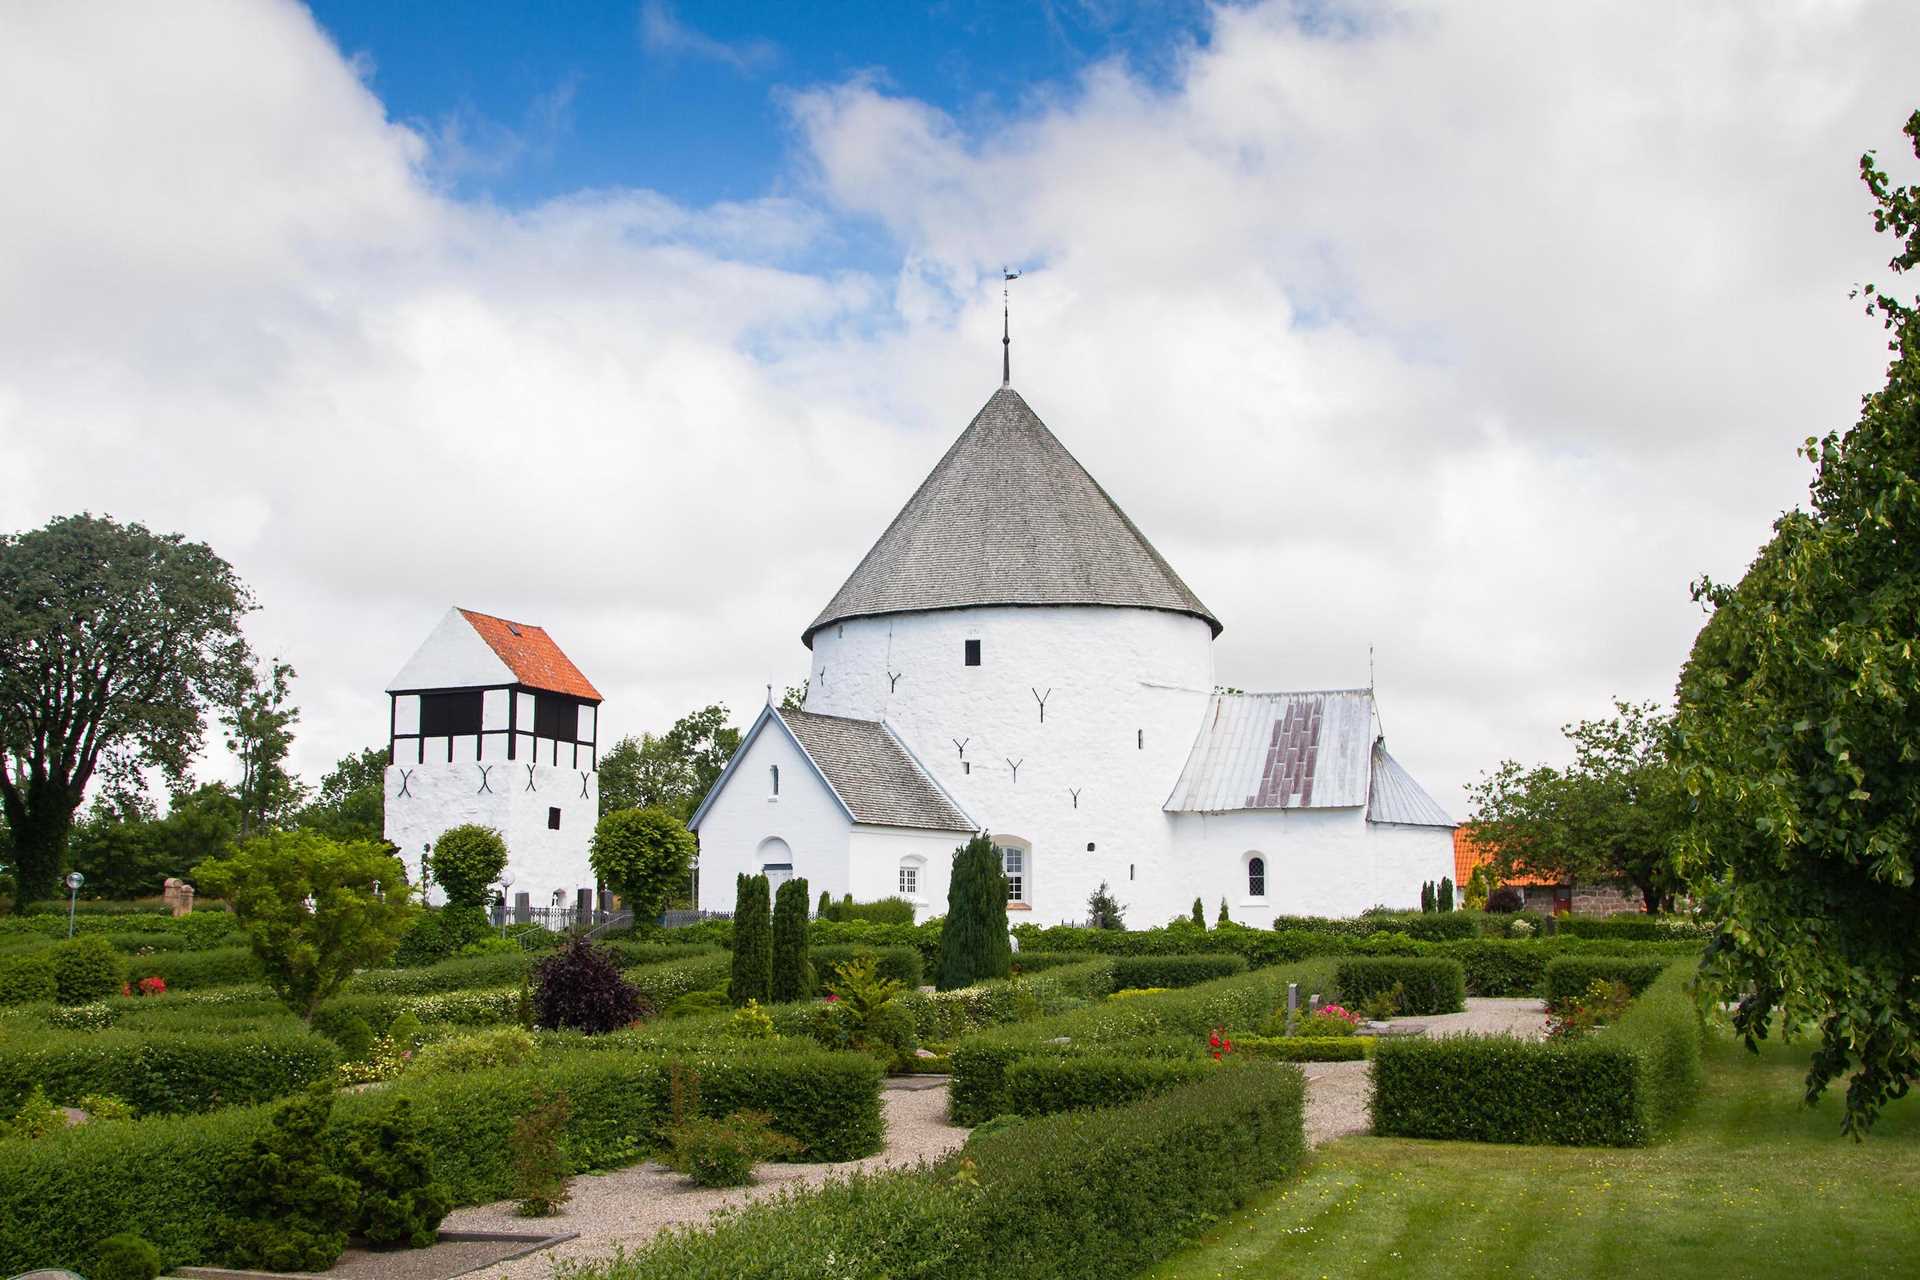
[[[770,1111],[812,1159],[854,1159],[881,1142],[879,1065],[868,1057],[783,1050],[689,1055],[685,1065],[701,1077],[707,1113]],[[486,1203],[513,1192],[513,1121],[553,1092],[572,1102],[563,1134],[570,1171],[626,1165],[659,1146],[668,1059],[557,1054],[516,1069],[401,1077],[372,1094],[342,1096],[334,1125],[363,1125],[388,1098],[409,1098],[436,1176],[457,1203]],[[227,1107],[0,1140],[0,1274],[86,1268],[96,1242],[121,1230],[154,1242],[169,1267],[213,1261],[225,1180],[269,1119],[269,1107]]]

